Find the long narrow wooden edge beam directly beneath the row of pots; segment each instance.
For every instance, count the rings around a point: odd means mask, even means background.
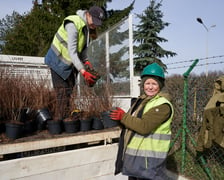
[[[91,143],[104,140],[105,143],[110,143],[111,139],[118,138],[120,135],[120,129],[114,129],[110,131],[99,131],[89,134],[78,134],[74,136],[64,136],[52,139],[42,139],[29,142],[18,142],[10,144],[0,145],[0,155],[47,149],[53,147],[75,145],[81,143]]]

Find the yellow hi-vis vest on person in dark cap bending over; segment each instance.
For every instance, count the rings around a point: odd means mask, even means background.
[[[86,25],[81,17],[77,15],[71,15],[64,19],[62,25],[59,27],[57,33],[54,36],[51,48],[56,53],[57,56],[66,64],[71,64],[71,58],[68,52],[68,34],[64,28],[64,23],[66,20],[69,20],[74,23],[77,31],[78,31],[78,44],[77,50],[80,53],[85,44],[85,36],[82,32],[83,27]]]

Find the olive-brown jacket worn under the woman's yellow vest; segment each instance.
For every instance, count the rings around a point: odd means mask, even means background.
[[[170,100],[168,94],[159,93],[159,95]],[[124,128],[121,132],[115,174],[121,172],[123,154],[133,136],[133,132],[137,132],[140,135],[148,135],[164,121],[168,120],[172,114],[172,109],[169,104],[156,106],[143,114],[143,109],[150,99],[146,95],[140,96],[120,121],[124,125]]]

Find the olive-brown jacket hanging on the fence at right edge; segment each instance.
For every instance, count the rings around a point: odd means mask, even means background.
[[[224,147],[224,76],[214,82],[213,95],[203,112],[196,150],[210,148],[213,142]]]

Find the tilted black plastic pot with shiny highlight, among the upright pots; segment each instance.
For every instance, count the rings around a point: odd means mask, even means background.
[[[36,113],[37,129],[46,129],[46,122],[51,119],[52,116],[47,108],[38,109]]]

